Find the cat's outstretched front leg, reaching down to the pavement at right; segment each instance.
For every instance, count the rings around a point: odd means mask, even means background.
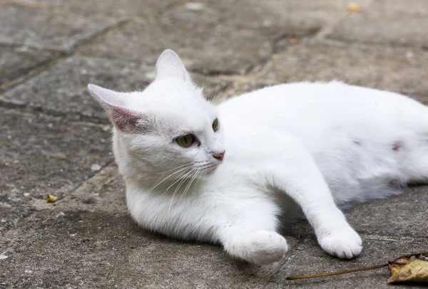
[[[264,177],[294,199],[315,230],[320,246],[339,258],[360,254],[362,241],[337,208],[327,183],[312,156],[301,146],[289,147],[292,156],[282,155],[280,165],[266,166]]]

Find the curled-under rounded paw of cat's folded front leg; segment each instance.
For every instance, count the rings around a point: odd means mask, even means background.
[[[281,261],[287,252],[285,238],[274,231],[255,231],[240,247],[240,258],[256,265]]]

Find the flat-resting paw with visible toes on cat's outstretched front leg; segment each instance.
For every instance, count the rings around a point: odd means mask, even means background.
[[[362,250],[362,240],[351,227],[318,237],[318,243],[324,251],[339,258],[354,258]]]

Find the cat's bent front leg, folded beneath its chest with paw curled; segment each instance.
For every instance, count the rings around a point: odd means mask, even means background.
[[[276,232],[277,211],[274,204],[260,200],[226,214],[229,219],[218,229],[225,251],[256,265],[281,261],[288,246],[285,238]]]

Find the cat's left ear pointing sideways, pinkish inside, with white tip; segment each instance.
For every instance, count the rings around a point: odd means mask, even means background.
[[[101,88],[89,84],[88,90],[101,107],[108,113],[108,118],[118,130],[123,132],[148,132],[153,124],[142,112],[136,112],[124,107],[125,93]]]

